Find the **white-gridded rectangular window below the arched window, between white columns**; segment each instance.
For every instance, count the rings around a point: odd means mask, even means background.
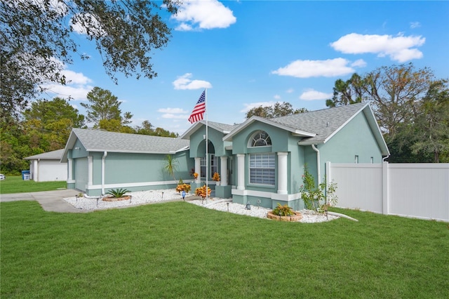
[[[250,183],[274,185],[274,153],[250,154]]]

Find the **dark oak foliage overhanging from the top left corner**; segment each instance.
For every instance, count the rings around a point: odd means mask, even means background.
[[[161,5],[163,4],[163,5]],[[151,55],[170,39],[163,13],[179,0],[3,0],[0,1],[1,117],[20,115],[47,82],[65,84],[64,65],[80,53],[79,33],[95,43],[105,72],[116,81],[157,73]]]

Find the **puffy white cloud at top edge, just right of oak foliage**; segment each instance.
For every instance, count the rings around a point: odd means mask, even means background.
[[[220,1],[185,0],[171,18],[181,22],[177,30],[226,28],[236,22],[232,11]]]

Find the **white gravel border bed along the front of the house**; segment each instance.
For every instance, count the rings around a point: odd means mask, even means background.
[[[107,208],[119,208],[126,206],[138,206],[142,204],[150,204],[163,201],[171,200],[182,200],[180,193],[175,190],[149,190],[140,192],[130,192],[126,195],[131,195],[130,200],[123,201],[102,201],[100,197],[69,197],[64,200],[75,208],[81,210],[103,210]],[[220,199],[220,198],[209,198],[206,200],[194,199],[189,200],[193,194],[187,194],[185,199],[191,204],[196,204],[197,206],[203,206],[204,208],[211,208],[217,211],[235,213],[239,215],[248,215],[251,217],[267,218],[267,213],[271,211],[269,208],[263,208],[259,206],[251,206],[250,210],[246,209],[243,204],[236,204],[232,202],[232,199]],[[335,220],[340,217],[337,215],[323,215],[310,210],[301,210],[302,219],[298,222],[303,223],[314,223],[314,222],[325,222],[330,220]]]

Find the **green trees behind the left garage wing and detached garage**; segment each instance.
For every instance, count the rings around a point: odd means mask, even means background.
[[[87,115],[63,98],[36,100],[18,119],[7,117],[1,121],[1,173],[19,174],[29,168],[23,158],[65,147],[72,128],[177,137],[178,134],[163,128],[154,128],[149,121],[141,126],[129,126],[133,114],[121,112],[121,102],[110,91],[95,87],[87,95],[88,103],[81,103]]]

